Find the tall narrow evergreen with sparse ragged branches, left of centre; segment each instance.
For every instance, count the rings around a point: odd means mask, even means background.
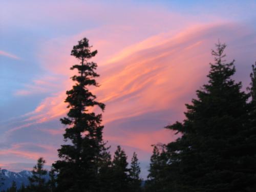
[[[99,186],[97,177],[104,152],[102,115],[91,111],[95,106],[104,110],[105,105],[89,91],[90,86],[98,86],[95,77],[99,76],[95,72],[97,64],[89,62],[97,54],[91,48],[88,39],[83,38],[71,51],[80,63],[71,68],[78,75],[72,77],[73,89],[67,91],[68,116],[60,119],[68,126],[63,136],[69,144],[61,145],[60,160],[53,164],[58,172],[57,191],[97,191]]]

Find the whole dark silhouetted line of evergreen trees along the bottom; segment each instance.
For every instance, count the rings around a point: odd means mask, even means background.
[[[97,54],[87,38],[78,41],[71,55],[79,60],[75,82],[67,91],[69,112],[60,119],[67,128],[66,144],[48,173],[39,158],[29,178],[30,184],[7,191],[31,192],[189,192],[256,191],[256,66],[252,65],[247,91],[232,78],[234,61],[226,62],[225,44],[216,45],[211,54],[208,82],[196,91],[197,98],[186,104],[183,122],[165,128],[179,134],[173,142],[154,145],[148,177],[142,184],[137,154],[131,165],[120,146],[111,157],[102,139],[101,114],[105,105],[90,92],[99,86]],[[189,80],[189,79],[187,79]],[[44,176],[49,174],[49,180]]]

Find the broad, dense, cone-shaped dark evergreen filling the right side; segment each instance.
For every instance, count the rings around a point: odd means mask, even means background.
[[[252,191],[255,189],[255,139],[248,142],[250,105],[241,82],[231,76],[226,45],[212,51],[209,81],[186,104],[186,119],[167,129],[182,134],[166,147],[166,167],[158,176],[173,191]],[[165,189],[159,191],[167,191]]]

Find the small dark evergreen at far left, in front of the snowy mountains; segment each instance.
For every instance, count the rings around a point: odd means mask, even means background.
[[[29,177],[30,191],[45,192],[48,191],[45,176],[47,175],[47,170],[44,169],[46,161],[44,158],[40,157],[37,160],[37,164],[33,167],[32,176]]]

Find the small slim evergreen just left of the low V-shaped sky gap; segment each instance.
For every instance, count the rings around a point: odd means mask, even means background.
[[[134,152],[131,169],[130,169],[130,178],[131,178],[131,191],[138,192],[141,191],[141,179],[140,179],[140,163],[137,157],[137,154]]]

